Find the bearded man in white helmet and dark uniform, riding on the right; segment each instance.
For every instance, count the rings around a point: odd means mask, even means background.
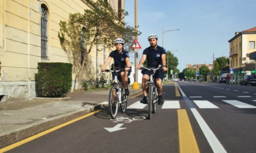
[[[148,37],[148,41],[150,46],[143,51],[143,55],[141,57],[140,63],[137,66],[137,69],[139,70],[144,63],[145,60],[148,61],[148,67],[157,68],[159,65],[162,65],[163,71],[167,71],[166,67],[166,60],[165,60],[165,49],[163,47],[157,46],[157,35],[151,34]],[[158,70],[155,75],[155,84],[157,87],[157,94],[158,94],[158,104],[163,104],[163,97],[162,97],[162,80],[163,80],[163,71]],[[144,97],[141,100],[141,103],[147,104],[147,82],[149,80],[149,76],[151,75],[151,72],[149,70],[144,70],[142,77],[142,90]]]

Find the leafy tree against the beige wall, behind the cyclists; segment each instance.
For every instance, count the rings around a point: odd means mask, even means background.
[[[135,35],[141,34],[124,22],[127,12],[121,10],[121,18],[119,18],[120,15],[117,15],[107,2],[102,0],[96,2],[87,0],[87,2],[93,8],[92,10],[85,10],[83,15],[70,14],[68,21],[60,21],[60,44],[68,53],[68,59],[76,66],[74,72],[76,78],[78,77],[79,89],[85,64],[92,67],[88,54],[95,45],[104,44],[111,49],[115,39],[121,37],[130,47]],[[82,64],[80,58],[82,58]]]

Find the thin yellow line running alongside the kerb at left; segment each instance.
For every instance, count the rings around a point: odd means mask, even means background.
[[[0,152],[9,151],[10,149],[16,148],[16,147],[18,147],[18,146],[20,146],[20,145],[22,145],[24,143],[27,143],[27,142],[32,141],[32,140],[35,140],[36,138],[39,138],[39,137],[41,137],[43,135],[49,134],[50,132],[55,131],[57,129],[60,129],[60,128],[64,127],[64,126],[67,126],[68,124],[74,123],[76,121],[82,120],[83,118],[89,117],[90,115],[96,114],[99,111],[101,111],[101,110],[95,110],[94,112],[91,112],[91,113],[89,113],[87,115],[84,115],[82,117],[79,117],[79,118],[76,118],[74,120],[68,121],[66,123],[60,124],[59,126],[52,127],[51,129],[48,129],[48,130],[43,131],[43,132],[41,132],[39,134],[33,135],[32,137],[29,137],[29,138],[26,138],[24,140],[21,140],[21,141],[18,141],[16,143],[13,143],[10,146],[7,146],[5,148],[0,149]]]

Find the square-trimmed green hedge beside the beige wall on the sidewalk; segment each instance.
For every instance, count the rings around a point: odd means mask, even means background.
[[[64,97],[72,86],[72,64],[38,63],[37,97]]]

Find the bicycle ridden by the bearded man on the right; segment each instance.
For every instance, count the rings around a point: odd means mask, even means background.
[[[151,112],[155,114],[157,110],[157,101],[158,101],[158,94],[157,94],[157,87],[155,86],[154,74],[157,70],[161,68],[158,67],[157,69],[154,68],[147,68],[141,67],[141,70],[146,69],[151,71],[150,79],[148,81],[147,87],[147,99],[148,99],[148,119],[151,119]]]

